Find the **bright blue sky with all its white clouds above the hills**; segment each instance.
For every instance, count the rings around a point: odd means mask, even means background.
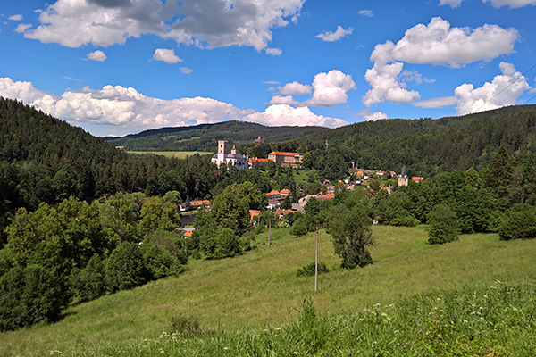
[[[2,0],[0,96],[89,133],[536,104],[536,0]]]

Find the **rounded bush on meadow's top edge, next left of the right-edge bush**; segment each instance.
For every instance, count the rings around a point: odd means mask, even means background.
[[[447,204],[435,206],[428,214],[428,243],[442,245],[458,238],[456,213]]]

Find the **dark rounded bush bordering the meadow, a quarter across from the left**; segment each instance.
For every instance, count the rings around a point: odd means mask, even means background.
[[[110,292],[126,290],[147,283],[146,262],[136,243],[123,242],[107,259],[105,284]]]

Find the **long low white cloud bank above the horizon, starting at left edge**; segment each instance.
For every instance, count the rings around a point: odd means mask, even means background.
[[[74,125],[106,127],[126,134],[169,126],[214,123],[222,120],[256,121],[266,125],[339,126],[346,121],[317,116],[308,108],[271,105],[264,112],[243,110],[211,98],[163,100],[139,93],[132,87],[83,87],[62,95],[49,95],[30,82],[0,78],[0,96],[21,100]]]

